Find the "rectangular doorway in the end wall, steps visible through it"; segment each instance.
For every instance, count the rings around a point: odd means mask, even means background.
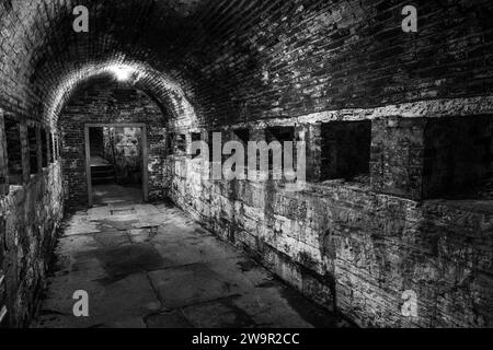
[[[145,125],[85,125],[89,207],[148,200]]]

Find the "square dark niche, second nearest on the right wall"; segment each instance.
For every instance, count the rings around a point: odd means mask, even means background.
[[[371,121],[333,121],[321,126],[321,180],[369,182]]]

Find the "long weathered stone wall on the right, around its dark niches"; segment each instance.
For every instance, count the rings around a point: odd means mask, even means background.
[[[184,152],[168,156],[169,196],[207,229],[357,325],[491,327],[493,207],[478,198],[423,200],[423,150],[433,141],[424,130],[434,121],[371,119],[369,183],[319,177],[291,191],[283,182],[213,182],[200,174],[210,164]],[[321,129],[320,122],[296,124],[297,135],[310,138],[307,163],[319,173],[329,166],[321,163]],[[199,130],[176,132],[192,131]],[[265,133],[250,129],[252,141]],[[417,298],[415,316],[402,313],[409,295]]]

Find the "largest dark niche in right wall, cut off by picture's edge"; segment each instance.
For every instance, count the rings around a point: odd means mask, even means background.
[[[493,116],[431,119],[424,145],[424,199],[493,199]]]

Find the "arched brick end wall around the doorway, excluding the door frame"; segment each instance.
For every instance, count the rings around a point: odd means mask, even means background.
[[[162,198],[164,116],[145,93],[125,84],[98,80],[81,89],[65,107],[60,118],[64,183],[67,206],[85,207],[85,124],[145,124],[149,152],[149,198]]]

